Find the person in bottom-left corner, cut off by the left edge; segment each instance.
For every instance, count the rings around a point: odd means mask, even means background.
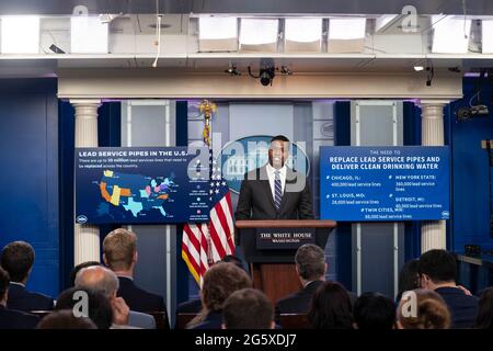
[[[37,316],[7,308],[10,276],[0,268],[0,329],[34,329],[39,321]]]

